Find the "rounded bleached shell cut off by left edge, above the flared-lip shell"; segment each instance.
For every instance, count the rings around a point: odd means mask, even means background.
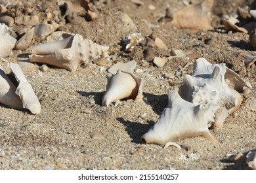
[[[0,58],[7,58],[15,46],[16,39],[9,33],[0,30]]]

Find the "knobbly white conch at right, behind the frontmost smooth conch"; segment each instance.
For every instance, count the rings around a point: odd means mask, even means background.
[[[238,80],[239,76],[227,70],[224,63],[211,65],[205,59],[198,59],[195,62],[193,75],[184,77],[184,85],[179,88],[180,95],[183,99],[195,104],[218,105],[213,127],[222,127],[226,117],[234,112],[243,100],[242,95],[234,89],[240,89],[242,85],[242,88],[246,86],[250,90],[251,86],[248,86],[242,79],[243,82]],[[238,82],[234,89],[228,86],[225,77]]]

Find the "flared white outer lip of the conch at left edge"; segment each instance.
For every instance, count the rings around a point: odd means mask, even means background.
[[[23,107],[28,108],[32,114],[39,114],[41,111],[41,104],[37,99],[37,95],[33,92],[32,86],[22,72],[22,69],[20,69],[20,66],[17,63],[9,63],[9,67],[18,81],[18,87],[15,93],[22,99]]]

